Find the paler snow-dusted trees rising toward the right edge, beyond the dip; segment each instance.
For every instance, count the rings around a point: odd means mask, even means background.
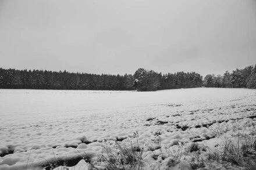
[[[202,84],[205,87],[215,88],[251,88],[256,89],[256,64],[243,69],[226,71],[223,75],[208,74]]]

